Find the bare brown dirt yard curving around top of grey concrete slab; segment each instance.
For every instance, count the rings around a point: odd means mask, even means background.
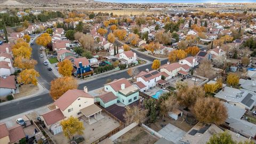
[[[159,130],[161,130],[163,128],[164,125],[167,125],[169,123],[179,127],[181,130],[183,130],[185,132],[188,132],[194,126],[194,125],[189,125],[188,123],[186,123],[185,117],[183,117],[183,116],[181,118],[179,118],[177,121],[170,118],[169,116],[166,116],[166,117],[164,117],[164,119],[162,119],[162,117],[159,117],[157,119],[157,121],[154,124],[150,124],[149,127],[158,132]]]

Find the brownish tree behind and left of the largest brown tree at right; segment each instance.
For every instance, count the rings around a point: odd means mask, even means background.
[[[203,98],[205,92],[202,87],[191,86],[187,89],[180,89],[177,93],[177,100],[181,106],[190,107],[193,106],[198,98]]]

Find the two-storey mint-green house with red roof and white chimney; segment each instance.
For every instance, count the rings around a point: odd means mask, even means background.
[[[117,102],[122,102],[124,105],[130,105],[140,99],[138,88],[125,78],[115,79],[113,82],[105,84],[104,90],[113,92],[117,97]]]

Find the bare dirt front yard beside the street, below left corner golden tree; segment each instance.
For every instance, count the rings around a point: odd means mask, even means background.
[[[19,87],[20,93],[14,94],[14,99],[25,97],[27,95],[37,92],[38,90],[38,86],[33,84],[21,85],[21,87]]]

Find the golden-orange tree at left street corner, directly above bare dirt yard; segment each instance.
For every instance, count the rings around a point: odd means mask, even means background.
[[[25,69],[22,70],[20,75],[17,78],[19,83],[23,84],[34,84],[37,85],[36,77],[39,77],[39,73],[35,69]]]

